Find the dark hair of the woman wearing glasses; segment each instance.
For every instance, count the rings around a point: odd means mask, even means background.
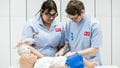
[[[53,0],[44,1],[42,6],[41,6],[41,9],[38,11],[38,13],[40,12],[40,15],[41,15],[45,10],[47,10],[47,13],[49,13],[51,10],[55,10],[56,13],[58,13],[55,1],[53,1]]]

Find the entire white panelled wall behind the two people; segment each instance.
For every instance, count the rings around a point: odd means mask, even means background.
[[[0,68],[17,66],[15,49],[26,20],[33,17],[44,0],[0,0]],[[59,21],[65,21],[65,7],[69,0],[55,0],[59,11]],[[86,13],[96,17],[103,31],[101,48],[103,64],[120,66],[120,1],[82,0]],[[4,63],[4,64],[3,64]]]

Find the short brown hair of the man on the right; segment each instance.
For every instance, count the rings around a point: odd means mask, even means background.
[[[80,0],[71,0],[66,8],[66,13],[70,15],[81,15],[82,10],[85,10],[83,2]]]

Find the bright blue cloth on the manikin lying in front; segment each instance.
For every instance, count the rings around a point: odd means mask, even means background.
[[[81,54],[74,54],[67,57],[66,64],[70,68],[84,68],[84,61]]]

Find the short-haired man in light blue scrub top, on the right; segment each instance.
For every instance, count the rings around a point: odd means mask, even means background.
[[[101,65],[99,54],[102,45],[100,23],[85,14],[85,7],[80,0],[70,0],[66,7],[66,46],[56,55],[82,54],[88,61]],[[68,52],[69,51],[69,52]]]

